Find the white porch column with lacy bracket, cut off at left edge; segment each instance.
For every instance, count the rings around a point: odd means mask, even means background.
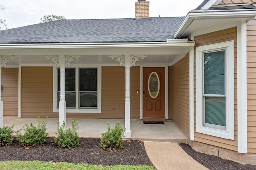
[[[2,101],[2,67],[6,66],[6,63],[10,61],[10,59],[14,59],[17,56],[14,55],[1,55],[0,56],[0,127],[4,126],[3,122],[3,101]]]

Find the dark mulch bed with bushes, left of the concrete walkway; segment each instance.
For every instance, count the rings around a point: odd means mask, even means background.
[[[112,151],[100,149],[100,139],[81,138],[82,146],[74,149],[58,147],[53,137],[47,137],[45,145],[38,145],[25,150],[14,140],[12,145],[0,147],[0,161],[40,160],[45,162],[70,162],[94,165],[149,165],[150,162],[144,143],[138,140],[127,140],[124,149]]]

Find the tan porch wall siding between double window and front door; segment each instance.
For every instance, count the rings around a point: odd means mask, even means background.
[[[131,119],[140,119],[140,67],[130,68]],[[121,66],[102,67],[101,113],[67,113],[67,117],[124,119],[125,71]]]

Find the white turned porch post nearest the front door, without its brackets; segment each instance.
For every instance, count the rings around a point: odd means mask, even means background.
[[[124,56],[124,66],[125,66],[125,104],[124,104],[124,137],[131,137],[130,129],[130,66],[131,66],[131,57],[130,55]]]

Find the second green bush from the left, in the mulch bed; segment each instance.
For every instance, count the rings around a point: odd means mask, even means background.
[[[39,116],[37,127],[33,125],[31,121],[30,125],[26,123],[21,129],[15,132],[17,134],[18,143],[24,148],[27,146],[34,147],[36,145],[43,145],[46,142],[46,137],[48,135],[48,133],[46,133],[46,124],[47,121],[41,122]],[[21,133],[22,130],[24,131],[24,134]]]

